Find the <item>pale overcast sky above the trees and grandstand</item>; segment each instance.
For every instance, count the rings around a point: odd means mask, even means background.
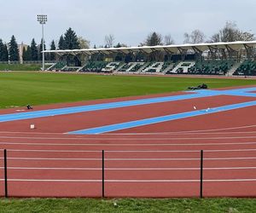
[[[104,44],[106,34],[116,43],[137,46],[149,32],[171,34],[183,43],[183,33],[200,29],[207,37],[226,20],[256,33],[256,0],[0,0],[0,38],[18,43],[37,42],[41,27],[37,14],[48,14],[45,41],[58,40],[68,27],[90,45]],[[49,47],[47,47],[48,49]]]

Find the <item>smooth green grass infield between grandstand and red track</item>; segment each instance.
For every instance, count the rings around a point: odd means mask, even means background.
[[[0,72],[0,108],[26,104],[86,101],[181,91],[207,83],[210,88],[256,85],[256,79],[162,78],[79,75],[42,72]]]

